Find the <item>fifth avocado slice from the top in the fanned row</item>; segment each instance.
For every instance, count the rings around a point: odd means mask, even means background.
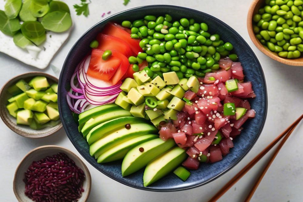
[[[138,144],[147,142],[149,140],[156,139],[158,137],[159,137],[158,135],[142,135],[132,138],[123,143],[115,145],[109,150],[105,151],[98,157],[97,161],[99,163],[107,163],[107,162],[123,159],[126,153],[133,147],[137,146]]]

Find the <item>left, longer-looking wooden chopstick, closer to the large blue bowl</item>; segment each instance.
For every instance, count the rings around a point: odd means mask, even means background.
[[[296,124],[298,124],[301,119],[303,118],[303,114],[295,120],[294,123],[292,123],[287,129],[285,129],[278,137],[275,138],[264,150],[262,150],[251,162],[249,162],[240,172],[238,172],[228,183],[224,185],[216,194],[213,196],[208,202],[214,202],[217,201],[223,194],[225,194],[226,191],[228,191],[238,180],[243,177],[248,170],[250,170],[275,144],[281,140],[285,134],[291,130]]]

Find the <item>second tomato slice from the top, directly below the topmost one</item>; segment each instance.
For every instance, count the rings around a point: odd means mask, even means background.
[[[99,42],[97,49],[116,50],[124,54],[126,57],[136,56],[129,45],[118,37],[100,33],[97,35],[97,41]]]

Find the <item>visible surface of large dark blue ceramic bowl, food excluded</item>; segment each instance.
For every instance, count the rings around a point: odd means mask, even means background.
[[[230,150],[228,155],[223,157],[223,160],[211,164],[202,163],[198,170],[191,171],[191,176],[186,180],[186,182],[183,182],[175,174],[171,173],[151,186],[143,187],[143,169],[133,175],[122,177],[121,161],[99,164],[96,162],[94,157],[89,155],[88,143],[78,132],[78,126],[73,120],[72,113],[68,107],[65,96],[67,91],[70,89],[70,78],[77,64],[90,51],[90,42],[95,39],[99,32],[102,31],[102,28],[107,22],[122,22],[123,20],[133,21],[136,19],[142,19],[148,14],[170,14],[173,19],[181,19],[185,17],[193,18],[197,22],[207,23],[209,25],[210,33],[218,33],[224,41],[231,42],[234,45],[235,53],[239,56],[239,61],[242,63],[244,68],[244,73],[246,75],[245,79],[252,82],[253,89],[257,97],[250,100],[251,107],[256,111],[255,118],[245,123],[243,132],[234,140],[235,147]],[[263,71],[254,52],[244,39],[231,27],[213,16],[193,9],[171,5],[151,5],[123,11],[102,20],[85,32],[85,34],[82,35],[82,37],[72,47],[64,62],[59,78],[58,100],[60,118],[68,138],[74,144],[79,153],[81,153],[82,156],[92,164],[92,166],[120,183],[130,187],[151,191],[176,191],[189,189],[208,183],[227,172],[235,166],[255,144],[262,131],[267,112],[267,93]]]

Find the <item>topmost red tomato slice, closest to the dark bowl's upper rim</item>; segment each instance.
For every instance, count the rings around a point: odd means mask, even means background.
[[[112,22],[107,23],[102,33],[122,39],[129,45],[129,47],[136,55],[138,54],[138,52],[142,52],[142,49],[139,46],[140,40],[132,39],[130,34],[127,31],[125,31],[125,29],[122,29],[121,26],[116,23],[112,23]]]

